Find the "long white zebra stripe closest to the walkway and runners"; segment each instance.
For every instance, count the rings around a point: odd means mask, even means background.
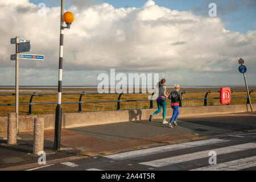
[[[105,155],[104,158],[115,159],[115,160],[123,160],[123,159],[136,158],[136,157],[139,157],[139,156],[159,154],[159,153],[162,153],[162,152],[169,152],[169,151],[175,151],[175,150],[180,150],[180,149],[184,149],[184,148],[205,146],[207,144],[214,144],[214,143],[221,143],[221,142],[228,142],[228,140],[213,138],[213,139],[199,140],[199,141],[195,141],[195,142],[169,144],[167,146],[146,148],[146,149],[143,149],[143,150],[123,152],[123,153],[120,153],[120,154]]]

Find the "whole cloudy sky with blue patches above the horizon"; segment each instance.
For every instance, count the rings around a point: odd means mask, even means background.
[[[57,85],[60,1],[0,0],[0,10],[0,85],[15,84],[15,36],[46,56],[20,60],[19,84]],[[97,85],[110,69],[159,73],[168,85],[242,85],[241,57],[256,85],[255,0],[66,0],[65,11],[75,21],[64,31],[63,85]]]

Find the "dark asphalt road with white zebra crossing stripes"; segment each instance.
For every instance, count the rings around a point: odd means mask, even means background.
[[[214,162],[215,156],[216,164],[209,164],[209,160]],[[90,156],[27,170],[256,170],[256,133],[229,134],[112,155]]]

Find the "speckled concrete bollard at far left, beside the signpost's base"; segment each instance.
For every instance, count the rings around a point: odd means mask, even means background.
[[[7,143],[17,143],[17,113],[8,113]]]

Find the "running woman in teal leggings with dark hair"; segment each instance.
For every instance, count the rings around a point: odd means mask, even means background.
[[[167,98],[167,92],[166,92],[166,79],[162,79],[159,81],[159,93],[158,98],[156,99],[156,104],[158,105],[158,110],[155,111],[155,113],[150,115],[149,121],[153,121],[154,115],[160,113],[161,108],[163,107],[163,124],[167,124],[168,121],[166,121],[166,98]]]

